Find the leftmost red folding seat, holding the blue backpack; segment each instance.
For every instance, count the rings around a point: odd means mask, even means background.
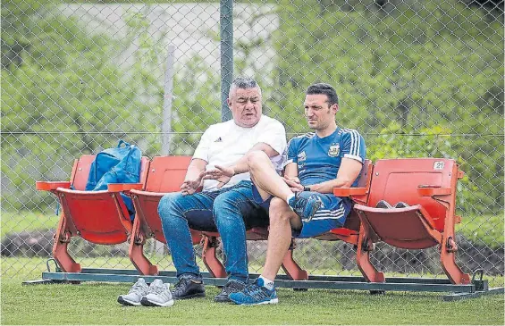
[[[72,237],[99,245],[116,245],[130,239],[132,222],[122,196],[107,190],[85,191],[95,155],[75,160],[70,181],[37,181],[37,190],[58,197],[62,213],[55,233],[53,257],[63,272],[81,272],[80,264],[68,252]],[[143,187],[149,159],[142,157],[140,187]]]

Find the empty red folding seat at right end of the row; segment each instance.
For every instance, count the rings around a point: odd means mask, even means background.
[[[442,269],[452,284],[469,284],[470,276],[455,261],[458,250],[454,225],[456,186],[463,171],[451,159],[412,158],[379,160],[367,205],[355,205],[361,221],[358,242],[358,267],[370,282],[384,282],[383,272],[370,263],[374,243],[392,247],[425,249],[439,246]],[[405,208],[375,208],[385,200],[391,205],[407,203]]]

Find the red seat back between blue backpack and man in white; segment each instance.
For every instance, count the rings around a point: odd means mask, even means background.
[[[191,156],[156,156],[149,167],[146,191],[180,191],[190,162]]]

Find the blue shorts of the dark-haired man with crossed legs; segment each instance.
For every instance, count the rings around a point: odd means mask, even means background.
[[[259,195],[256,186],[253,184],[253,198],[257,205],[268,210],[273,196],[263,200]],[[292,230],[294,238],[312,238],[319,236],[329,230],[341,228],[345,219],[350,213],[351,201],[347,197],[338,197],[332,194],[320,194],[314,191],[304,191],[299,196],[317,196],[323,205],[319,208],[310,222],[306,218],[300,217],[302,222],[301,230]]]

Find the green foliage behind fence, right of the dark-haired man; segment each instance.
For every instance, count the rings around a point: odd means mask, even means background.
[[[339,124],[365,135],[369,156],[380,150],[376,135],[384,135],[391,151],[379,151],[382,157],[457,158],[471,181],[463,208],[503,207],[500,19],[458,1],[397,2],[391,11],[337,1],[281,5],[278,86],[269,107],[287,130],[307,130],[302,94],[310,83],[330,82],[341,96]],[[450,149],[427,150],[437,137],[447,138]]]

